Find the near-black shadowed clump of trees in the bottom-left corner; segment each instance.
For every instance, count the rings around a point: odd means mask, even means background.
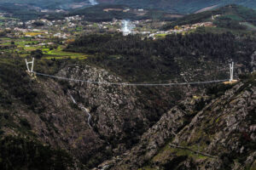
[[[73,168],[73,158],[64,150],[53,150],[36,141],[19,137],[0,139],[0,167],[3,169],[55,169]]]

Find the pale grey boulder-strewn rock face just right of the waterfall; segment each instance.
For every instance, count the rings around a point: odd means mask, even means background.
[[[88,65],[67,67],[59,72],[59,76],[92,82],[121,82],[108,71]],[[148,122],[144,106],[137,99],[136,93],[140,92],[136,88],[86,82],[69,84],[74,99],[89,109],[93,130],[108,142],[127,139],[127,133]]]

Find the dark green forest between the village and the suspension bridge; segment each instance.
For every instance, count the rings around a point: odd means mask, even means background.
[[[229,59],[246,63],[256,49],[253,37],[236,37],[231,33],[191,33],[168,35],[166,38],[120,34],[86,35],[67,47],[67,51],[96,54],[89,61],[101,65],[129,81],[163,80],[179,73],[183,62],[205,60],[225,62]],[[242,53],[238,53],[242,51]],[[170,69],[172,68],[172,69]]]

